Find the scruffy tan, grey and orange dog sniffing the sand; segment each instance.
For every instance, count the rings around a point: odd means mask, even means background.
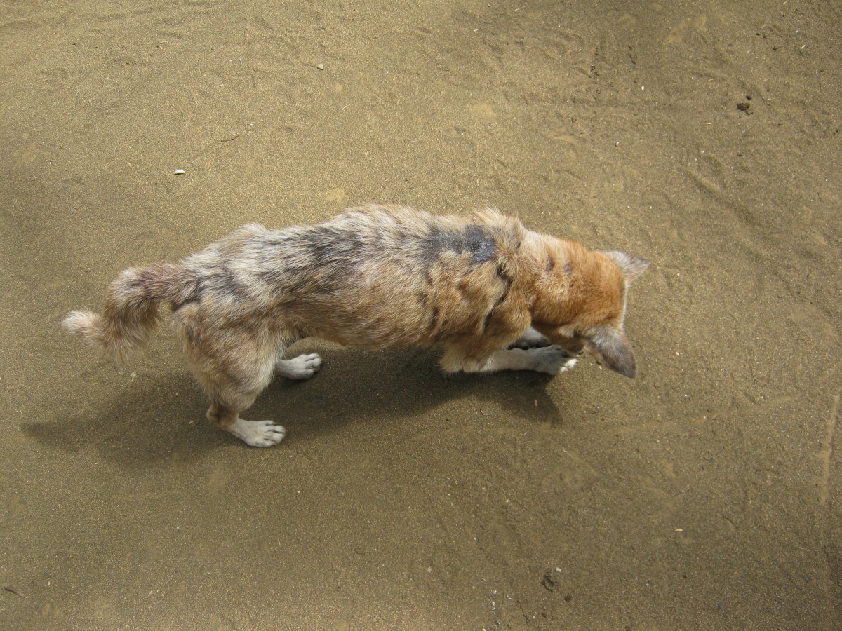
[[[559,374],[584,350],[633,377],[626,291],[647,266],[527,230],[493,209],[440,216],[371,204],[317,225],[243,225],[179,263],[126,269],[102,315],[72,311],[63,325],[123,361],[168,306],[210,398],[210,422],[270,447],[284,427],[239,415],[274,375],[317,372],[315,353],[284,358],[304,337],[369,349],[444,347],[447,373]]]

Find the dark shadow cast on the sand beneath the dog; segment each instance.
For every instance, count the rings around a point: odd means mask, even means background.
[[[289,357],[295,351],[321,354],[320,373],[306,381],[277,379],[242,415],[284,425],[290,434],[281,446],[343,432],[359,422],[386,426],[440,407],[445,416],[495,414],[560,422],[560,412],[546,391],[552,379],[548,374],[449,376],[439,367],[440,353],[429,350],[365,352],[322,342],[301,342],[291,350]],[[127,468],[165,459],[200,459],[213,449],[239,443],[205,420],[207,402],[186,369],[174,377],[149,372],[119,388],[102,399],[96,398],[101,390],[94,389],[87,411],[52,422],[24,423],[23,430],[49,448],[96,448]],[[468,405],[457,403],[460,400]]]

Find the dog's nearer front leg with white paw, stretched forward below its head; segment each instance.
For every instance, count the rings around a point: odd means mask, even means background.
[[[577,359],[560,346],[540,348],[506,348],[482,358],[466,357],[459,349],[448,349],[441,363],[445,371],[456,373],[495,373],[499,370],[535,370],[539,373],[561,374],[576,365]]]

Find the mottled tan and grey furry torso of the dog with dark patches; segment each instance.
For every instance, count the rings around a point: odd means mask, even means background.
[[[184,260],[201,316],[260,321],[282,337],[369,348],[482,334],[509,289],[520,222],[400,206],[350,209],[322,224],[245,225]],[[177,307],[178,308],[178,305]]]

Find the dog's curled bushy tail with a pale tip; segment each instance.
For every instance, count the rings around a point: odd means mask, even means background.
[[[123,362],[141,350],[161,321],[162,301],[189,300],[186,270],[171,263],[126,269],[109,286],[103,314],[71,311],[61,324],[110,358]]]

